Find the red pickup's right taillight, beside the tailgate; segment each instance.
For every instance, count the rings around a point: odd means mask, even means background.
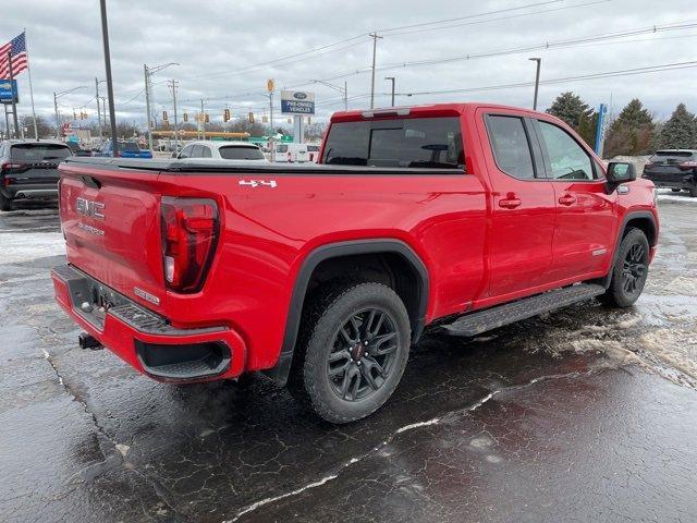
[[[218,206],[212,199],[162,197],[160,203],[162,265],[167,285],[197,292],[218,242]]]

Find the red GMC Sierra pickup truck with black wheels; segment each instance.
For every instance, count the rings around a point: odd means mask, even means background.
[[[628,306],[656,253],[653,184],[549,114],[340,112],[320,158],[69,158],[52,278],[81,345],[169,382],[264,370],[345,423],[387,401],[426,327]]]

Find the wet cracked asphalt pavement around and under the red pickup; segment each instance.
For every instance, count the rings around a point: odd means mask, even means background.
[[[54,209],[0,212],[0,521],[697,521],[697,205],[637,306],[433,332],[370,418],[262,378],[173,387],[82,351]]]

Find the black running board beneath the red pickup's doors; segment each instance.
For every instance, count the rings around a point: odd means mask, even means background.
[[[444,325],[443,328],[452,336],[473,337],[487,330],[497,329],[555,308],[589,300],[603,292],[606,290],[602,285],[590,283],[565,287],[487,308],[486,311],[467,314],[450,325]]]

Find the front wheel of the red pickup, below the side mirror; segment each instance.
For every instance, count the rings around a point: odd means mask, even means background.
[[[648,271],[649,242],[639,229],[629,229],[620,243],[610,287],[601,301],[613,307],[633,305],[644,290]]]

